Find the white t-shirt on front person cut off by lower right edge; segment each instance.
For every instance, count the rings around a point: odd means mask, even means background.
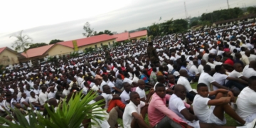
[[[250,96],[249,96],[250,95]],[[256,113],[256,92],[250,87],[245,87],[238,95],[238,100],[236,105],[238,109],[236,110],[239,117],[246,119],[251,114]]]

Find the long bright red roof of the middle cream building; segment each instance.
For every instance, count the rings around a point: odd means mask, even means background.
[[[116,38],[116,37],[110,36],[107,34],[102,34],[102,35],[98,35],[98,36],[91,36],[88,38],[80,38],[75,41],[77,41],[78,47],[80,47],[80,46],[87,46],[87,45],[102,42],[102,41],[112,40],[114,38]],[[68,46],[70,48],[74,48],[72,41],[64,41],[64,42],[60,42],[58,44],[63,45],[63,46]]]

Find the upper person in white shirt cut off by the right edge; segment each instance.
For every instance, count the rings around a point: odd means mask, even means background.
[[[245,68],[242,70],[242,75],[245,78],[256,76],[256,60],[252,60],[249,65],[245,66]]]

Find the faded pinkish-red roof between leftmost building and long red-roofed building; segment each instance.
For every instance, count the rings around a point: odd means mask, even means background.
[[[49,50],[52,46],[54,46],[54,44],[28,49],[26,53],[23,52],[21,53],[21,55],[24,55],[26,58],[33,58],[36,56],[40,56],[46,53],[46,51]]]

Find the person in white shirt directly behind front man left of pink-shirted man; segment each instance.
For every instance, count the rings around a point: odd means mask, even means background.
[[[124,105],[127,105],[130,102],[129,94],[131,92],[131,85],[128,82],[123,83],[124,91],[121,93],[121,101],[124,103]]]

